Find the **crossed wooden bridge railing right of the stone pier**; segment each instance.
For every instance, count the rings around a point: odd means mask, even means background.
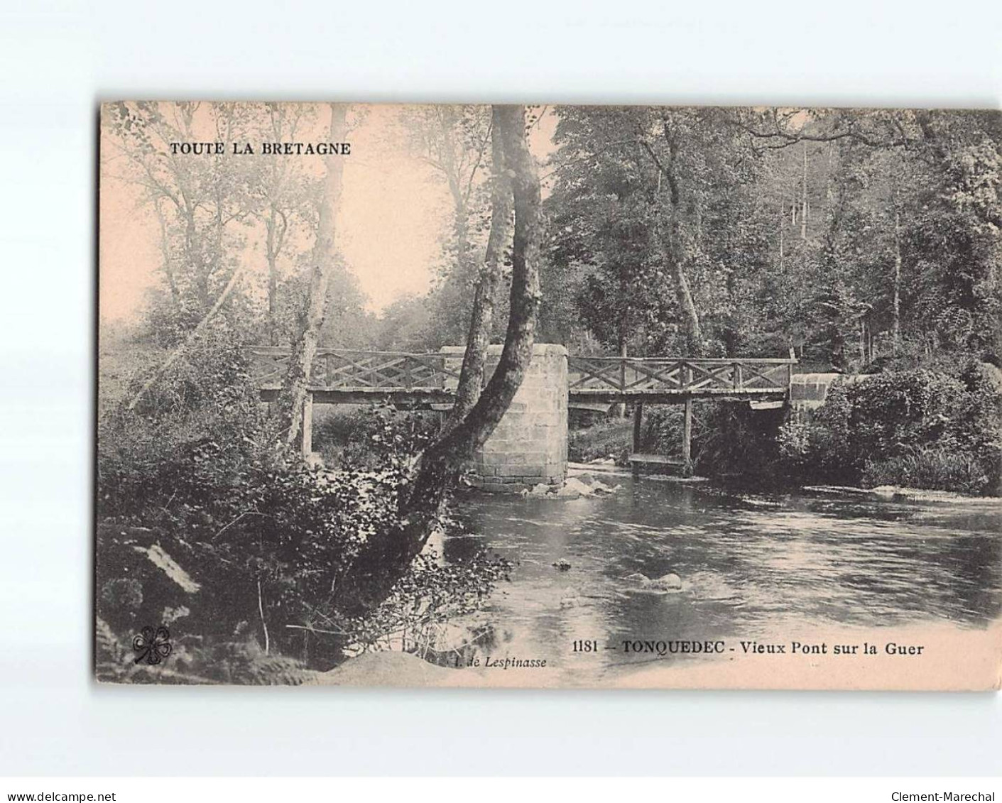
[[[571,392],[785,392],[794,358],[570,356]]]

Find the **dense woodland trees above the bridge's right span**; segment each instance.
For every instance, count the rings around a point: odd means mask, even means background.
[[[541,325],[840,369],[998,354],[1000,115],[560,109]],[[668,192],[668,185],[672,192]],[[660,230],[676,227],[673,247]]]

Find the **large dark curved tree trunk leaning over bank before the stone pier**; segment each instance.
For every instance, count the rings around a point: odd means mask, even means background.
[[[492,137],[499,140],[511,175],[515,208],[511,309],[504,348],[469,414],[421,457],[410,492],[400,502],[400,525],[370,536],[338,583],[335,607],[347,616],[362,616],[379,606],[424,548],[463,463],[494,432],[532,359],[539,306],[539,178],[525,139],[525,107],[495,106],[494,121]],[[494,219],[492,215],[492,223]]]

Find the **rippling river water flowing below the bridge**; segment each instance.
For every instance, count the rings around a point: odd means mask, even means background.
[[[601,478],[578,500],[470,495],[468,535],[447,561],[487,548],[516,564],[475,655],[545,658],[590,683],[649,663],[623,641],[782,638],[790,628],[983,628],[1002,615],[1002,506],[749,495],[655,478]],[[553,566],[566,561],[570,568]],[[630,575],[674,573],[651,593]],[[597,651],[575,653],[593,640]],[[464,656],[466,658],[468,656]],[[662,656],[658,660],[679,660]],[[683,660],[683,659],[682,659]]]

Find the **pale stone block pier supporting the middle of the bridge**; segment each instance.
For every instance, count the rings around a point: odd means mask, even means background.
[[[447,367],[459,372],[463,346],[447,345]],[[451,355],[455,355],[452,357]],[[497,367],[501,346],[487,353],[484,376]],[[454,388],[456,380],[446,385]],[[473,458],[470,479],[485,491],[517,493],[567,476],[567,349],[536,343],[532,361],[511,406]]]

